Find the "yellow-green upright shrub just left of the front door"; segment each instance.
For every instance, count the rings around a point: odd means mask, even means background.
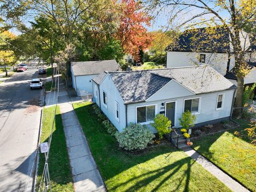
[[[171,132],[171,121],[163,114],[157,114],[154,118],[154,123],[151,125],[158,131],[160,139],[163,138],[163,134]]]

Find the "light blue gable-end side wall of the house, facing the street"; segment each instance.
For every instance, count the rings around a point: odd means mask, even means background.
[[[103,104],[103,91],[107,93],[107,107]],[[111,123],[116,126],[117,130],[122,132],[126,126],[125,105],[109,75],[100,84],[100,100],[103,113],[109,118]],[[119,122],[115,116],[115,101],[119,103]]]

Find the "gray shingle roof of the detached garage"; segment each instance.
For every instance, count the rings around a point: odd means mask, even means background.
[[[94,75],[103,71],[118,71],[120,69],[116,60],[76,61],[71,62],[71,67],[73,68],[74,76]]]

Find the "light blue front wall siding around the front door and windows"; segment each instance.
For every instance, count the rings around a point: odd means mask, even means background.
[[[175,127],[181,127],[179,124],[179,118],[181,118],[183,113],[183,106],[185,99],[192,99],[192,98],[201,98],[201,110],[200,113],[196,115],[196,122],[203,123],[207,121],[211,121],[214,119],[219,119],[223,117],[230,116],[230,110],[233,100],[233,93],[235,90],[227,90],[227,91],[220,91],[214,93],[207,93],[207,94],[198,94],[193,96],[186,96],[186,97],[179,97],[179,98],[172,98],[172,99],[164,99],[158,101],[150,101],[150,102],[142,102],[142,103],[133,103],[127,106],[127,122],[128,123],[136,123],[136,107],[137,106],[145,106],[145,105],[155,105],[157,104],[157,114],[160,111],[164,111],[164,106],[162,103],[176,101],[176,113],[175,113]],[[223,109],[216,110],[217,105],[217,97],[218,94],[225,93],[225,98],[223,101]],[[165,105],[165,104],[164,104]],[[148,125],[149,129],[153,132],[156,132],[153,127]]]

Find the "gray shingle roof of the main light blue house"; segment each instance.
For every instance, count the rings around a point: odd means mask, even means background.
[[[175,79],[194,94],[236,87],[208,66],[112,72],[109,75],[125,103],[146,101],[171,79]]]

